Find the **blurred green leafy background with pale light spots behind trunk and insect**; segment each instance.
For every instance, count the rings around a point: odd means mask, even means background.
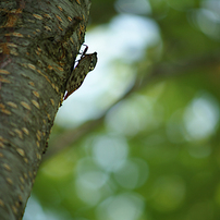
[[[98,63],[58,112],[24,220],[220,219],[219,12],[93,0]]]

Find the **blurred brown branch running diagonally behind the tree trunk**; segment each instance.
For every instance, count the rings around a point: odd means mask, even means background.
[[[120,101],[130,97],[134,91],[140,91],[146,88],[149,84],[157,80],[163,80],[166,77],[178,76],[191,72],[194,69],[204,69],[204,68],[213,68],[219,65],[219,53],[209,54],[207,57],[196,58],[194,60],[183,60],[179,63],[168,63],[163,62],[160,64],[155,64],[149,70],[149,73],[145,74],[144,77],[136,77],[134,84],[126,89],[124,95],[115,100],[105,112],[101,113],[99,119],[93,120],[84,123],[80,127],[74,130],[68,130],[63,134],[59,135],[56,139],[51,142],[50,149],[44,157],[44,161],[51,158],[56,154],[59,154],[61,150],[66,149],[78,142],[82,137],[95,131],[98,126],[101,125],[106,114]]]

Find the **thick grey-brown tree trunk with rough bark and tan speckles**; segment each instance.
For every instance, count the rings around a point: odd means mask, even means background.
[[[90,0],[0,1],[0,219],[22,219]]]

